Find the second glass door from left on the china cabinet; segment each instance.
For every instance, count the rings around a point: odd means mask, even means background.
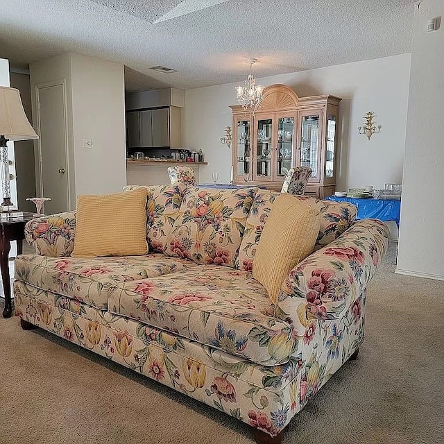
[[[271,147],[275,126],[273,118],[273,114],[262,114],[256,119],[253,180],[261,182],[273,180],[273,169],[271,167]]]

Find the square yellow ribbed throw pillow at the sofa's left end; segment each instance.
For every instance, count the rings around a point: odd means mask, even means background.
[[[77,196],[73,257],[139,256],[146,244],[146,189]]]

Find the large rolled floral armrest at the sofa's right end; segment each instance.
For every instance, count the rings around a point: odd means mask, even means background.
[[[293,325],[307,325],[309,318],[341,318],[366,289],[387,246],[384,223],[354,223],[291,270],[278,296],[276,316]]]

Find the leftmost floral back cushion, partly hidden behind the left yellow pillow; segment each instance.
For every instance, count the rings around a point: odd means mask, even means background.
[[[146,241],[150,252],[164,253],[167,248],[167,237],[179,214],[180,205],[186,185],[128,185],[123,191],[146,189]]]

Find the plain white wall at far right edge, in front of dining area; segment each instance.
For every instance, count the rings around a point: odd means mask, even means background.
[[[444,17],[442,0],[416,13],[402,185],[398,273],[444,280]]]

